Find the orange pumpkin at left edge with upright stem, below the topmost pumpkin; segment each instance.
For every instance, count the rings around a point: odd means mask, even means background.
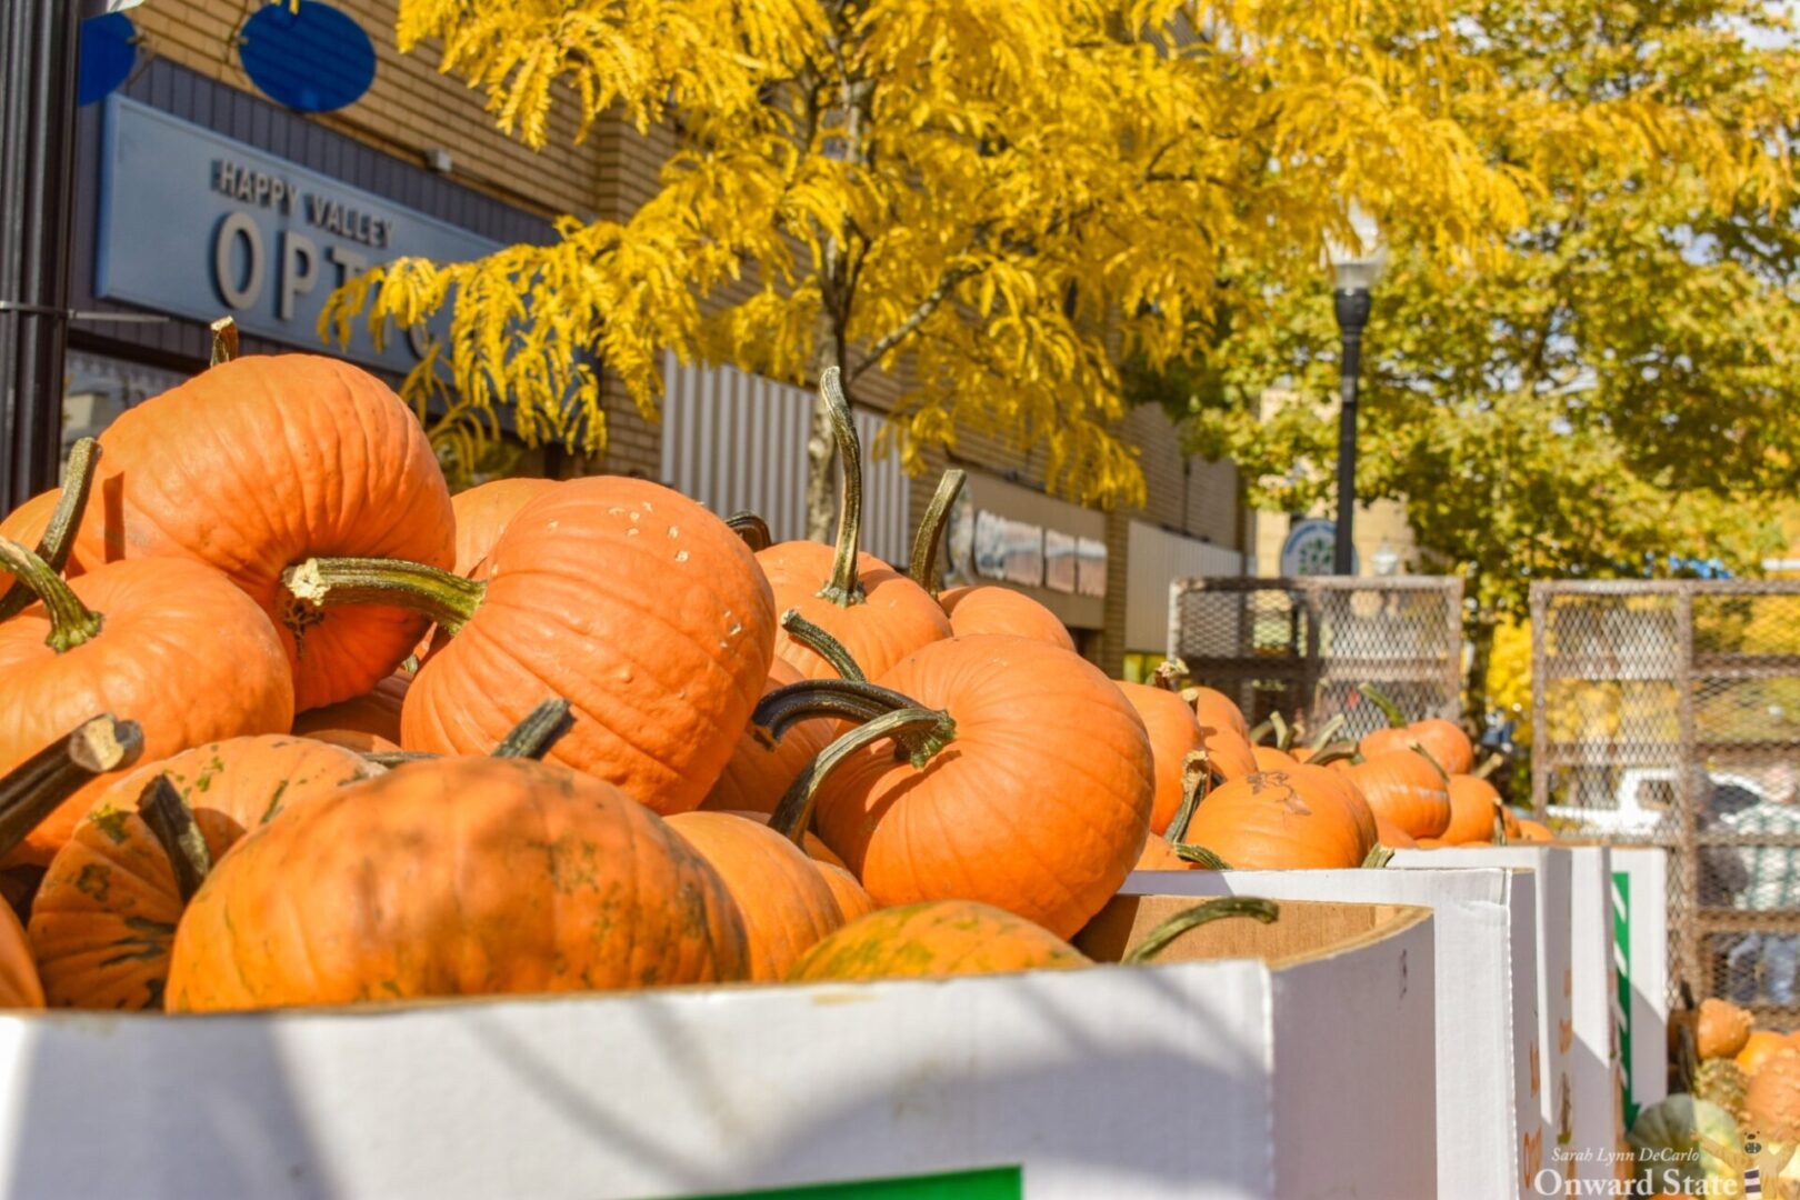
[[[268,617],[202,563],[158,558],[61,581],[43,560],[0,543],[0,563],[43,597],[0,622],[0,772],[94,716],[144,727],[144,757],[293,723],[293,680]],[[112,781],[76,792],[9,864],[47,864]]]

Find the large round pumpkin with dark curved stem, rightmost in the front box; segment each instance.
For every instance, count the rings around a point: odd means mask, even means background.
[[[880,905],[979,900],[1078,930],[1130,874],[1156,795],[1150,739],[1112,680],[1046,642],[988,635],[931,642],[878,684],[938,725],[902,741],[907,759],[875,741],[814,774],[826,846]]]

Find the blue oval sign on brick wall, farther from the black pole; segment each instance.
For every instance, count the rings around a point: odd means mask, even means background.
[[[238,58],[250,83],[279,104],[328,113],[374,83],[374,43],[353,16],[319,0],[265,4],[243,23]]]

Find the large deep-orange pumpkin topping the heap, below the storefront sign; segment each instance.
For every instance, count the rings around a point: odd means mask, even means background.
[[[430,441],[367,371],[317,354],[238,358],[128,410],[101,446],[81,561],[189,558],[229,574],[275,622],[301,711],[364,694],[425,631],[405,608],[319,612],[281,587],[311,556],[454,561]]]

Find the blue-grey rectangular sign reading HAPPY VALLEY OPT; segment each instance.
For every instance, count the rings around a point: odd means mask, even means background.
[[[486,257],[499,243],[396,205],[193,122],[113,95],[101,146],[94,295],[324,351],[326,297],[389,259]],[[446,338],[450,315],[428,335]],[[427,331],[391,333],[382,353],[356,322],[344,349],[405,372]]]

